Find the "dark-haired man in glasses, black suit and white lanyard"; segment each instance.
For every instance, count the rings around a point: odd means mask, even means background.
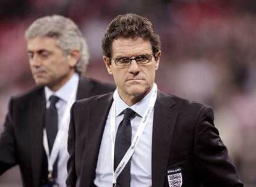
[[[212,109],[157,89],[160,39],[147,18],[117,16],[102,46],[117,89],[72,106],[67,186],[243,186]]]

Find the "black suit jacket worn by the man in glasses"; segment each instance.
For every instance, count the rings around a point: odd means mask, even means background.
[[[106,94],[72,106],[67,186],[94,186],[101,138],[112,102],[113,94]],[[213,124],[209,106],[158,91],[152,141],[153,187],[169,186],[168,171],[174,170],[181,171],[183,187],[243,186]]]

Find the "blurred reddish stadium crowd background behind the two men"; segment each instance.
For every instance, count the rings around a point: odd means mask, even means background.
[[[0,130],[11,95],[34,85],[23,39],[28,25],[52,14],[74,20],[90,50],[85,75],[113,82],[101,39],[108,23],[127,12],[149,18],[160,34],[158,87],[213,107],[242,181],[256,186],[255,0],[1,0]],[[17,167],[0,177],[0,186],[22,186]]]

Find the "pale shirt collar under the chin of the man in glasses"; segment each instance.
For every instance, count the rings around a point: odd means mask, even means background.
[[[154,83],[155,84],[155,83]],[[145,97],[142,98],[139,102],[135,103],[132,106],[127,105],[120,95],[118,94],[117,89],[114,91],[114,101],[116,102],[116,117],[122,114],[122,111],[126,108],[133,109],[135,113],[139,114],[139,116],[143,116],[145,113],[145,109],[148,107],[148,103],[150,102],[151,95],[153,94],[153,89],[150,90],[150,92],[145,95]]]

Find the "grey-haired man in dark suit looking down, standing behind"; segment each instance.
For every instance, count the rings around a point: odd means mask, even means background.
[[[0,174],[19,164],[23,186],[66,186],[70,106],[77,99],[111,92],[114,86],[80,75],[89,54],[69,18],[39,18],[25,38],[37,87],[9,102],[0,136]]]

